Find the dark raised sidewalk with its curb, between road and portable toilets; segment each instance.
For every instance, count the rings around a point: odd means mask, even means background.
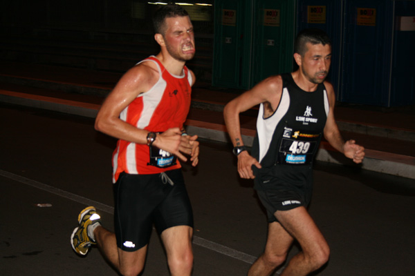
[[[121,76],[114,72],[8,61],[0,61],[0,65],[0,101],[86,117],[95,117],[104,97]],[[240,92],[196,83],[186,122],[187,131],[201,138],[228,142],[222,110],[225,103]],[[361,167],[415,179],[415,120],[412,120],[415,117],[412,110],[388,113],[371,109],[335,108],[344,137],[356,139],[367,148],[367,158]],[[241,132],[248,146],[252,145],[255,136],[256,116],[257,108],[241,115]],[[317,159],[354,166],[325,141]]]

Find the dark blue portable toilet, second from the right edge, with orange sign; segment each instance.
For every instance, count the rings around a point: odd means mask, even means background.
[[[393,6],[344,1],[341,101],[389,106]]]

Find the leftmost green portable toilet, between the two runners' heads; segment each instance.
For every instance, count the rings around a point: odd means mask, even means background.
[[[212,86],[250,88],[251,1],[214,1]]]

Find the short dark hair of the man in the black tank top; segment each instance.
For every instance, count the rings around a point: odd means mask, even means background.
[[[325,46],[329,44],[331,46],[331,39],[330,37],[320,29],[304,29],[297,34],[294,42],[294,52],[304,57],[304,54],[307,52],[306,43],[315,44],[322,44]]]

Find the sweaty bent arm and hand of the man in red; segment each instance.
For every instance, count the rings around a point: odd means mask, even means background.
[[[146,64],[147,63],[147,64]],[[116,87],[105,99],[97,118],[95,129],[117,139],[131,141],[136,144],[147,144],[147,130],[131,126],[120,119],[120,113],[127,108],[140,93],[148,91],[158,79],[158,72],[150,66],[151,63],[140,63],[128,70],[118,81]],[[187,158],[179,152],[181,130],[170,128],[157,135],[154,146],[171,152],[183,161]]]

